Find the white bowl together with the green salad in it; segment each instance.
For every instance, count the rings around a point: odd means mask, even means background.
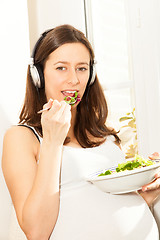
[[[135,155],[134,159],[90,174],[87,181],[104,192],[123,194],[133,192],[152,182],[160,169],[160,159],[144,159]]]

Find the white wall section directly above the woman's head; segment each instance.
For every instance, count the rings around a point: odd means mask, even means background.
[[[28,0],[31,50],[39,35],[61,24],[85,33],[83,0]]]

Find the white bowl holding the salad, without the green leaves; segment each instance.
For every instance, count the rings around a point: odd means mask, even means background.
[[[116,167],[112,167],[110,170],[114,170],[115,168]],[[86,180],[93,183],[104,192],[122,194],[139,190],[143,185],[152,182],[158,171],[160,171],[159,161],[154,165],[134,170],[126,170],[124,172],[118,172],[106,176],[98,176],[100,173],[104,172],[104,170],[101,170],[89,175]]]

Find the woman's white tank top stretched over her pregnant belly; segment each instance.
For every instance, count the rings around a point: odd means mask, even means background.
[[[85,180],[122,161],[124,155],[112,137],[95,148],[63,147],[60,210],[50,240],[159,239],[154,217],[140,195],[104,193]]]

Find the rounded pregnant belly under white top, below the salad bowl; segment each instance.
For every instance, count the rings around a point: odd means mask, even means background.
[[[156,222],[136,193],[111,195],[86,184],[61,191],[50,240],[158,240]]]

